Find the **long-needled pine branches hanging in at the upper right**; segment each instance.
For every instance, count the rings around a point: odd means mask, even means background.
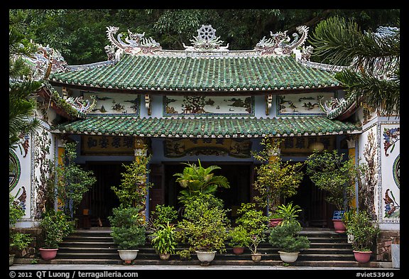
[[[313,55],[349,66],[335,75],[347,97],[381,113],[399,114],[400,28],[380,31],[362,32],[354,20],[334,17],[317,25],[310,42]]]

